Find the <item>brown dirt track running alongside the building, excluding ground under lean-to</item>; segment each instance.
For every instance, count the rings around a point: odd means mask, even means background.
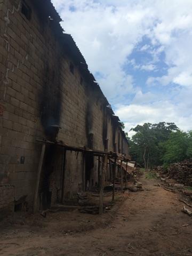
[[[13,234],[1,238],[0,255],[192,255],[192,217],[181,212],[179,195],[154,186],[156,180],[141,182],[145,190],[127,195],[107,227],[72,235]]]

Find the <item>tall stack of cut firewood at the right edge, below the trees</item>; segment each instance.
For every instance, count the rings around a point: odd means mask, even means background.
[[[180,163],[171,164],[168,175],[169,178],[175,179],[187,186],[192,186],[192,158]]]

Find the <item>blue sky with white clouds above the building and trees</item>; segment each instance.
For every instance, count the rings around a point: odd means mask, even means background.
[[[192,0],[52,0],[125,131],[192,129]]]

